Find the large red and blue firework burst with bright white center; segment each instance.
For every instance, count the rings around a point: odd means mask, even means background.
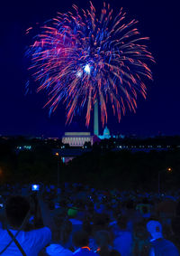
[[[78,109],[86,109],[86,125],[97,101],[102,123],[107,122],[107,106],[119,121],[125,109],[135,112],[137,95],[146,98],[144,78],[152,80],[147,62],[154,59],[140,37],[137,21],[125,22],[125,13],[112,14],[103,4],[100,15],[90,2],[88,10],[57,14],[44,24],[26,52],[31,58],[32,76],[38,91],[47,90],[50,111],[66,103],[67,122]],[[31,30],[28,29],[27,33]]]

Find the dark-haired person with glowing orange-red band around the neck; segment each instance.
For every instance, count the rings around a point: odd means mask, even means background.
[[[77,232],[74,232],[73,234],[73,244],[75,248],[75,252],[73,255],[76,256],[94,256],[97,255],[89,248],[89,236],[87,232],[80,230]]]

